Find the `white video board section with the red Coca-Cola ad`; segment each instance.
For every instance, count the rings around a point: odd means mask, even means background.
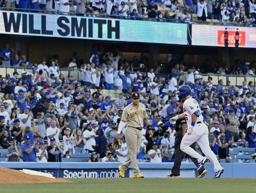
[[[256,48],[256,28],[193,24],[192,45]]]

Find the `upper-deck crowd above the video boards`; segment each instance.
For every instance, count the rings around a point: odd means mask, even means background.
[[[231,0],[1,0],[0,8],[177,23],[214,19],[225,24],[254,24],[256,18],[255,0],[244,2]]]

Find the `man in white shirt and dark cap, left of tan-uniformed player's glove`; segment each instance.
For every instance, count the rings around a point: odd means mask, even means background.
[[[83,132],[83,137],[86,139],[86,144],[84,145],[84,150],[88,153],[94,152],[95,148],[95,133],[93,131],[93,126],[91,123],[88,123],[86,126],[86,130]]]

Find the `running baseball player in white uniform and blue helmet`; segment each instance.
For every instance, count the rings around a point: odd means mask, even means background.
[[[197,100],[191,98],[191,88],[188,85],[182,85],[179,87],[177,92],[179,99],[184,100],[183,104],[183,113],[174,116],[170,119],[170,122],[175,122],[177,119],[185,118],[187,121],[187,133],[184,135],[182,139],[182,143],[180,144],[180,150],[190,155],[193,158],[196,158],[198,161],[198,169],[200,170],[204,163],[209,161],[214,163],[214,171],[215,175],[213,178],[221,177],[221,174],[224,172],[223,167],[218,162],[216,155],[212,152],[209,147],[209,138],[208,138],[208,128],[205,125],[204,118],[201,115],[199,104]],[[207,156],[203,157],[198,154],[193,148],[190,147],[194,142],[200,146],[202,152]]]

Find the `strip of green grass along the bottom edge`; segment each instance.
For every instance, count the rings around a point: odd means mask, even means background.
[[[70,179],[74,183],[4,184],[0,192],[87,193],[87,192],[255,192],[255,179]]]

